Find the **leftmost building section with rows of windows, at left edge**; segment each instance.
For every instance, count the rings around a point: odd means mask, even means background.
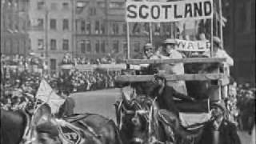
[[[27,34],[28,1],[2,0],[1,2],[1,53],[24,55],[30,46]]]

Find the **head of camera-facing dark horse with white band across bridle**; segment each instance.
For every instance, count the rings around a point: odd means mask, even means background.
[[[121,131],[130,140],[129,144],[149,143],[150,134],[150,108],[152,100],[147,97],[122,98]]]

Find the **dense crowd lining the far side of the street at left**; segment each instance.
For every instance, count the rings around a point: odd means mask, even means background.
[[[75,93],[114,87],[114,79],[120,71],[70,70],[68,74],[39,74],[29,71],[9,70],[7,77],[1,79],[1,107],[5,110],[18,110],[33,104],[41,79],[56,91]],[[6,74],[5,74],[6,75]]]

